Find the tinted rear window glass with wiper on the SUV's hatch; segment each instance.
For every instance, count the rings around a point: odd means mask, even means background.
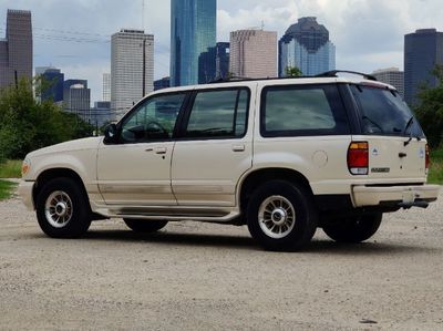
[[[424,137],[419,122],[396,91],[351,85],[363,134]]]

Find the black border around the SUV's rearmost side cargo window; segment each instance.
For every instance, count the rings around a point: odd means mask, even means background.
[[[330,93],[324,91],[324,87],[334,87],[337,89],[337,97],[332,101],[330,100]],[[332,130],[328,128],[310,128],[310,130],[286,130],[286,131],[266,131],[266,101],[267,93],[269,91],[290,91],[290,90],[316,90],[321,89],[324,91],[324,95],[327,97],[328,104],[331,107],[331,113],[333,118],[336,120],[336,127]],[[339,132],[337,124],[337,110],[342,108],[342,116],[346,120],[346,130]],[[343,102],[343,97],[340,93],[340,89],[336,83],[320,83],[320,84],[284,84],[284,85],[268,85],[265,86],[260,92],[260,136],[264,138],[277,138],[277,137],[305,137],[305,136],[334,136],[334,135],[350,135],[352,132],[351,123],[349,120],[348,111],[346,107],[346,103]]]

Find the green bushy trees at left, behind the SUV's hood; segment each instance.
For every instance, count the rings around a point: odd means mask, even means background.
[[[39,90],[37,80],[37,90]],[[39,93],[39,91],[37,91]],[[32,84],[22,79],[18,87],[0,92],[0,159],[23,158],[29,152],[90,136],[93,127],[53,102],[38,103]]]

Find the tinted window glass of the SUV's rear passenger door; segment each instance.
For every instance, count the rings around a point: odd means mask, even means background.
[[[247,130],[249,92],[246,89],[198,92],[186,137],[241,137]]]

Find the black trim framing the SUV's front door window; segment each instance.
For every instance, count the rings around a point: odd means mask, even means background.
[[[192,96],[193,90],[183,90],[183,91],[175,91],[175,92],[163,92],[163,93],[156,93],[154,95],[146,96],[142,100],[140,100],[117,123],[117,138],[116,142],[113,143],[113,145],[136,145],[136,144],[151,144],[151,143],[167,143],[167,142],[173,142],[176,139],[177,133],[179,127],[182,126],[183,122],[183,115],[188,106],[190,96]],[[164,97],[164,96],[173,96],[173,95],[179,95],[183,94],[183,103],[182,107],[178,111],[177,120],[175,121],[175,126],[173,130],[173,135],[171,138],[167,139],[152,139],[150,142],[122,142],[122,132],[123,132],[123,124],[127,120],[127,117],[132,116],[133,113],[143,104],[148,103],[155,97]]]

